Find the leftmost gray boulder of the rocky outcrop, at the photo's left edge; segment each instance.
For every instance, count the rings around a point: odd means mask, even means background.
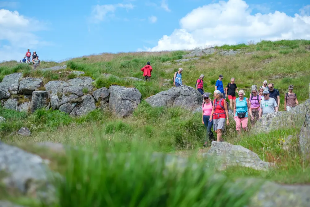
[[[19,79],[22,73],[12,73],[4,76],[0,83],[0,99],[9,98],[10,94],[17,94],[19,87]]]

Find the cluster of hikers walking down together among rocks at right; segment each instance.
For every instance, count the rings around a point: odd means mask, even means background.
[[[202,75],[200,75],[201,77]],[[280,93],[274,88],[273,83],[267,83],[265,80],[263,85],[257,89],[256,85],[252,85],[250,98],[246,98],[244,90],[238,90],[235,84],[235,78],[230,79],[230,83],[226,88],[223,87],[223,75],[219,75],[219,79],[215,83],[215,91],[213,92],[214,100],[212,101],[208,94],[202,94],[202,123],[206,127],[206,140],[204,146],[208,146],[214,140],[211,128],[217,134],[216,140],[222,140],[222,132],[226,124],[229,125],[228,108],[233,109],[233,119],[236,122],[236,130],[241,134],[241,128],[248,130],[248,117],[252,126],[262,115],[277,112],[280,106]],[[198,83],[199,79],[197,80]],[[197,89],[197,88],[196,88]],[[284,95],[284,110],[290,111],[297,106],[298,100],[296,93],[293,92],[294,86],[289,85],[288,92]],[[238,97],[236,97],[236,92]],[[226,101],[228,95],[229,104]]]

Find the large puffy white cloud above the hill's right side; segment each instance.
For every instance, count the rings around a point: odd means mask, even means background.
[[[242,0],[219,1],[189,12],[180,20],[180,29],[164,35],[149,51],[193,49],[248,41],[310,39],[310,16],[275,11],[251,14]]]

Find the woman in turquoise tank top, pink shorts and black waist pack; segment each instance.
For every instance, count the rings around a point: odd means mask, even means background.
[[[238,134],[241,134],[241,125],[244,131],[248,130],[248,112],[250,113],[251,119],[254,119],[250,101],[248,98],[244,97],[244,95],[246,95],[245,92],[239,90],[239,98],[236,99],[233,110]]]

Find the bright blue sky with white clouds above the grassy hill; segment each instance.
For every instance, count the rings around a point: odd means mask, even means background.
[[[41,60],[60,61],[101,52],[192,49],[261,38],[310,39],[308,4],[54,0],[35,2],[33,7],[27,1],[0,1],[0,61],[20,60],[28,48]]]

